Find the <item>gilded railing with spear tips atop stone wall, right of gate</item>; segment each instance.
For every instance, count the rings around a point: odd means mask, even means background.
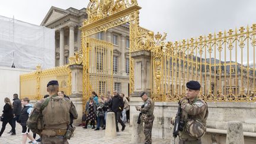
[[[153,47],[152,97],[178,101],[199,81],[205,101],[255,102],[256,24]]]

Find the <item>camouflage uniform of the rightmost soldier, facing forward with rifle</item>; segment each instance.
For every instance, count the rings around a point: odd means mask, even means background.
[[[188,101],[184,99],[181,101],[181,120],[185,123],[189,119],[199,119],[204,127],[206,127],[206,119],[208,116],[207,104],[203,100],[199,100],[197,97],[193,101]],[[189,133],[183,129],[183,132],[180,132],[180,142],[179,144],[201,144],[201,139],[196,139],[191,137]]]

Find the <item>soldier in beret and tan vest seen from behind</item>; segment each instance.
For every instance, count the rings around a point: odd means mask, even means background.
[[[34,109],[27,121],[28,127],[33,133],[38,133],[41,136],[41,142],[44,144],[68,143],[65,134],[69,124],[71,124],[71,117],[72,119],[78,117],[71,100],[58,96],[58,91],[58,82],[50,81],[47,84],[47,92],[49,92],[50,97],[34,104]],[[43,117],[41,122],[37,119],[40,114]]]

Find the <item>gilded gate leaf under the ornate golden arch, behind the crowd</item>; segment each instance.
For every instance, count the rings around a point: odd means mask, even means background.
[[[91,94],[112,94],[113,92],[113,44],[89,39],[89,85]]]

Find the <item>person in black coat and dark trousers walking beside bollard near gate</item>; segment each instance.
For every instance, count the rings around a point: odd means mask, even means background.
[[[119,132],[119,127],[118,127],[117,121],[122,126],[121,131],[123,131],[126,127],[126,125],[121,120],[121,111],[123,111],[124,103],[123,103],[123,98],[121,98],[120,95],[116,91],[114,91],[113,94],[114,94],[114,97],[111,99],[109,108],[110,108],[110,111],[113,111],[115,113],[116,130],[117,130],[117,132]]]

